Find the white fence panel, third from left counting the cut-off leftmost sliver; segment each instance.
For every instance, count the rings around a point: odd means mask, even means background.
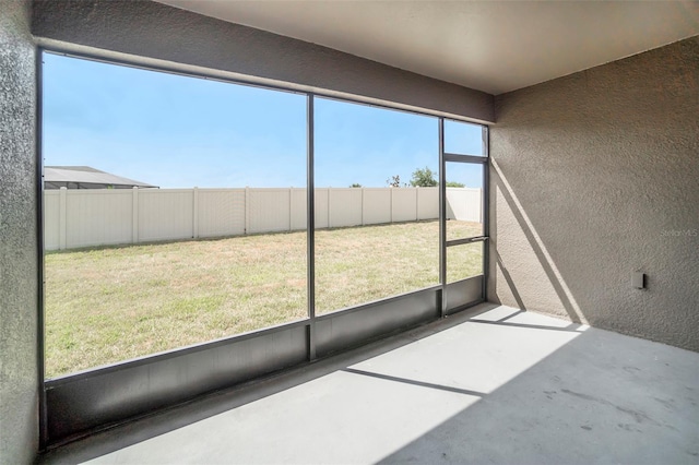
[[[191,239],[192,189],[134,189],[138,192],[138,241]]]

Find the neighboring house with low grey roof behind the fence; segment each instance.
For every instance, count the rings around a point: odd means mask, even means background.
[[[90,166],[45,166],[44,189],[132,189],[158,188],[100,171]]]

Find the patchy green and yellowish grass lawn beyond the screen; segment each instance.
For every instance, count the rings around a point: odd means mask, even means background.
[[[47,253],[47,378],[306,318],[306,254],[305,231]],[[318,230],[317,312],[436,285],[438,257],[437,222]],[[448,264],[481,274],[482,246]]]

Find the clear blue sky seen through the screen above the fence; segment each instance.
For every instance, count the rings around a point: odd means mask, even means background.
[[[44,55],[44,164],[87,165],[162,188],[306,186],[306,96]],[[316,186],[386,187],[437,172],[438,119],[317,98]],[[447,123],[448,151],[481,153]],[[481,167],[448,180],[481,186]]]

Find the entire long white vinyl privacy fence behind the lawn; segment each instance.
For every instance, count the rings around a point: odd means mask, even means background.
[[[316,227],[439,217],[438,188],[316,189]],[[448,188],[447,217],[482,220],[481,189]],[[211,238],[306,229],[306,189],[94,189],[44,192],[44,247]]]

